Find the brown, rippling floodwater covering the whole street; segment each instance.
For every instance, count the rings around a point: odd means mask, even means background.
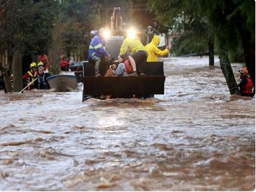
[[[255,97],[230,96],[215,59],[164,58],[154,99],[1,92],[0,190],[254,190]]]

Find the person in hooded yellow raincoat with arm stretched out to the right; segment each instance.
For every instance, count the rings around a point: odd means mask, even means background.
[[[160,42],[159,36],[155,35],[152,38],[152,41],[150,42],[150,44],[147,44],[145,46],[145,49],[148,52],[147,61],[157,61],[158,56],[164,56],[168,54],[169,46],[167,46],[166,49],[164,49],[164,51],[161,51],[161,49],[157,47],[157,45],[159,45],[159,42]]]

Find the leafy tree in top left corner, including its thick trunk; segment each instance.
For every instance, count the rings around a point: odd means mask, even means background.
[[[10,52],[13,91],[22,89],[21,55],[37,54],[51,43],[54,9],[58,1],[0,1],[0,51]]]

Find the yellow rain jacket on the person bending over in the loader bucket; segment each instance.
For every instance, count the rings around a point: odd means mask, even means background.
[[[146,51],[143,44],[140,42],[140,39],[137,37],[127,37],[125,38],[123,44],[120,48],[120,54],[125,54],[127,50],[132,53],[134,51]]]

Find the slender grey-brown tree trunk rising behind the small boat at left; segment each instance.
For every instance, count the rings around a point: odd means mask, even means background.
[[[60,16],[56,19],[52,31],[52,44],[49,49],[49,61],[51,63],[51,74],[60,74],[61,70],[61,20]]]

